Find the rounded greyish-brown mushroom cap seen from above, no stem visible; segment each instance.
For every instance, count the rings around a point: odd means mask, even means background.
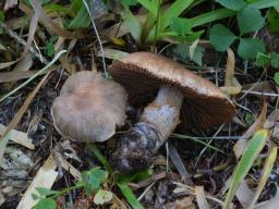
[[[123,87],[90,71],[70,76],[52,103],[53,124],[61,135],[80,142],[104,142],[125,120]]]

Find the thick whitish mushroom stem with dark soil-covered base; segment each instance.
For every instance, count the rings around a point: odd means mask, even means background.
[[[140,122],[121,136],[113,163],[128,173],[147,168],[151,157],[179,124],[183,94],[171,86],[160,87],[156,99],[141,115]]]

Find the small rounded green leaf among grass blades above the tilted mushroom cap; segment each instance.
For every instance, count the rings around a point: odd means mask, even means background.
[[[192,25],[187,19],[174,17],[170,23],[170,29],[177,32],[178,35],[184,36],[192,32]]]

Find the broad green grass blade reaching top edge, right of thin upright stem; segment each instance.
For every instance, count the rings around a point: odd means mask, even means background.
[[[193,3],[193,0],[175,0],[162,15],[163,27],[168,27],[171,20],[179,17],[180,14],[191,5],[191,3]]]

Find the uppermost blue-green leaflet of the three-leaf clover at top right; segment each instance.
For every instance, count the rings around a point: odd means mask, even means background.
[[[259,10],[248,7],[238,13],[238,24],[242,35],[260,29],[265,24],[265,19]]]

